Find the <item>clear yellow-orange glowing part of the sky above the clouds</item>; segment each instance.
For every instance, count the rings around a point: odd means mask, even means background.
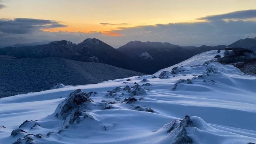
[[[136,27],[168,23],[193,23],[197,18],[233,11],[255,9],[255,0],[226,1],[172,1],[161,3],[153,0],[5,0],[1,18],[34,18],[60,21],[67,27],[48,31],[90,33],[109,32],[121,27]],[[102,25],[100,23],[111,23]]]

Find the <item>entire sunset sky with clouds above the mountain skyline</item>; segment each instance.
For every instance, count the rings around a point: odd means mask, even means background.
[[[181,46],[256,37],[256,0],[0,0],[0,47],[98,38]]]

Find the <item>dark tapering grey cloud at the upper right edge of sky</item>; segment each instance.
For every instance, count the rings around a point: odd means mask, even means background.
[[[221,20],[221,19],[254,19],[256,18],[256,10],[235,11],[221,15],[209,15],[199,20]]]

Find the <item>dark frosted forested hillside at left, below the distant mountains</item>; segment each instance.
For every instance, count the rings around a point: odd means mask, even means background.
[[[0,98],[49,90],[56,83],[81,85],[143,75],[108,64],[63,58],[0,58]]]

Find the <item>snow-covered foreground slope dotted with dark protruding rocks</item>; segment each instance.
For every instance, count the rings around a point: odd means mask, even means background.
[[[214,62],[217,54],[155,75],[2,98],[0,143],[256,143],[256,77]]]

